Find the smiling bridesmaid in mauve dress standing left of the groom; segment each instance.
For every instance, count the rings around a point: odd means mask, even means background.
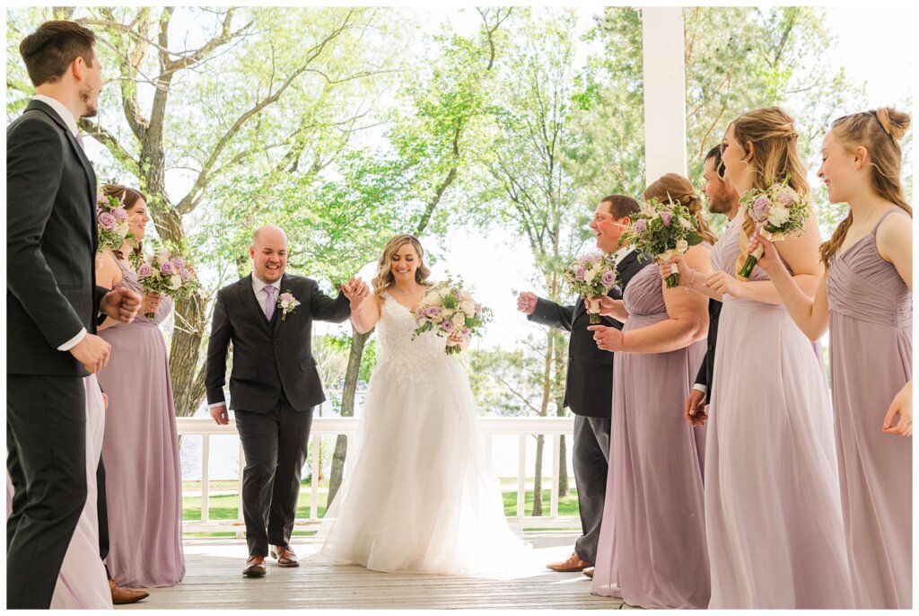
[[[150,220],[143,195],[120,186],[103,190],[119,199],[124,195],[130,231],[142,240]],[[119,255],[109,251],[101,257],[98,284],[143,293],[122,258],[130,249],[126,243]],[[112,323],[108,320],[99,327],[99,336],[112,346],[108,365],[98,373],[109,401],[102,447],[110,545],[106,563],[127,587],[173,586],[185,576],[176,410],[165,342],[157,326],[171,309],[169,298],[148,294],[132,323],[107,327]],[[145,313],[155,316],[150,319]]]

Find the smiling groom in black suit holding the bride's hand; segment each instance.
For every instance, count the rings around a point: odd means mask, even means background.
[[[312,321],[343,322],[369,290],[360,279],[350,279],[333,300],[319,291],[315,280],[285,274],[287,235],[276,226],[255,230],[249,255],[253,273],[217,293],[205,386],[210,415],[218,424],[228,424],[223,383],[232,342],[230,405],[245,454],[243,517],[249,558],[243,575],[257,577],[265,575],[269,547],[278,566],[300,565],[289,545],[290,533],[312,409],[325,400],[312,359]],[[282,303],[284,293],[297,305]]]

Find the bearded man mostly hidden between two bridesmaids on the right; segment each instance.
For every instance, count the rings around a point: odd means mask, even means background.
[[[724,165],[721,163],[721,147],[716,145],[705,155],[705,168],[702,172],[705,184],[702,192],[709,201],[709,211],[713,214],[724,214],[728,217],[728,224],[732,224],[737,212],[740,211],[741,198],[737,190],[724,179]],[[740,221],[736,221],[740,222]],[[723,234],[722,234],[723,237]],[[718,242],[721,240],[719,239]],[[680,264],[685,266],[685,261]],[[687,279],[693,279],[688,275]],[[681,276],[682,279],[682,276]],[[698,285],[697,285],[698,286]],[[708,295],[708,293],[706,293]],[[711,377],[715,368],[715,343],[718,341],[718,317],[721,314],[721,302],[709,295],[709,348],[705,359],[699,366],[696,384],[693,385],[686,398],[686,418],[694,425],[701,426],[707,419],[705,407],[706,400],[711,399]]]

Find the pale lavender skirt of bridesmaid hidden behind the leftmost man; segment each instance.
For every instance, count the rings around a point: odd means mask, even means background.
[[[83,380],[86,388],[86,505],[67,546],[58,574],[52,610],[111,610],[112,596],[105,567],[99,560],[96,519],[96,466],[102,453],[106,411],[96,375]],[[13,510],[13,484],[6,475],[6,517]]]

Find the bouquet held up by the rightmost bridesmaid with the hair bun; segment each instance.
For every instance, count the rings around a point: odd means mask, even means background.
[[[789,186],[788,177],[766,189],[751,188],[741,197],[742,210],[756,225],[754,234],[758,231],[770,242],[803,234],[810,207],[807,198]],[[756,261],[762,256],[763,246],[756,246],[737,272],[737,278],[749,279]]]

